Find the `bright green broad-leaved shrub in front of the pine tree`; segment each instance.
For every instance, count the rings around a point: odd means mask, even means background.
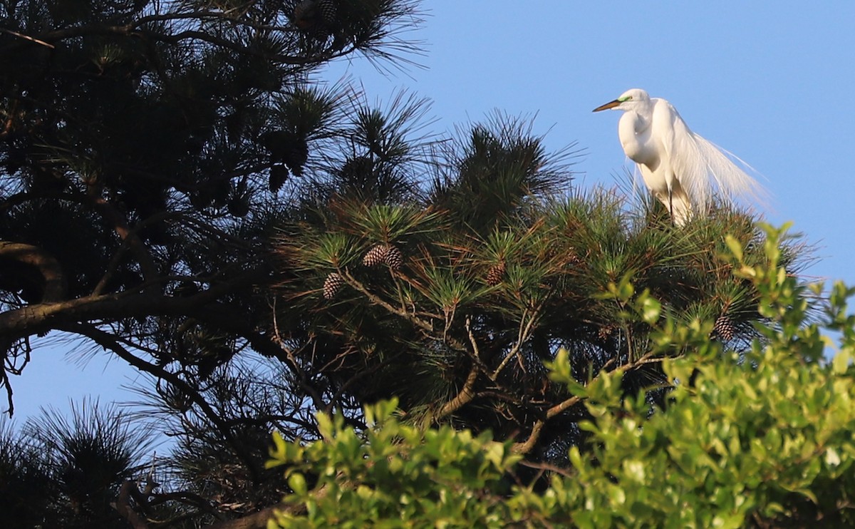
[[[651,354],[693,348],[663,361],[664,407],[644,393],[626,397],[621,367],[587,385],[558,354],[551,377],[586,399],[592,437],[569,450],[572,467],[550,468],[545,490],[521,484],[508,444],[449,427],[419,431],[392,416],[395,402],[369,407],[377,422],[357,434],[323,417],[324,440],[276,439],[271,465],[288,465],[294,493],[280,526],[740,527],[855,524],[855,288],[834,286],[826,324],[832,346],[806,324],[806,296],[778,266],[782,231],[767,228],[766,265],[739,253],[734,273],[751,278],[770,323],[746,354],[710,342],[710,322],[654,332]],[[818,291],[819,287],[814,289]],[[629,298],[631,286],[613,288]],[[659,306],[641,294],[632,307],[656,322]],[[305,475],[316,479],[314,487]],[[514,484],[509,489],[509,484]],[[271,526],[275,526],[271,521]]]

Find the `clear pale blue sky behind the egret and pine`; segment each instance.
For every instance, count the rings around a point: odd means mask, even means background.
[[[369,100],[407,88],[433,101],[431,129],[481,122],[492,110],[533,116],[557,151],[576,143],[575,186],[612,187],[624,167],[620,112],[591,110],[628,88],[668,99],[694,132],[750,163],[772,196],[765,217],[793,221],[817,246],[808,276],[855,285],[855,2],[601,2],[425,0],[426,68],[382,74],[362,58],[350,75]],[[121,389],[136,373],[97,354],[34,352],[15,384],[15,422],[68,399]],[[3,395],[4,397],[4,395]],[[0,406],[5,409],[5,406]]]

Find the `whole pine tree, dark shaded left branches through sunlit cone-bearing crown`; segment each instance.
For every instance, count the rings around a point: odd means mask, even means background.
[[[178,440],[156,487],[133,453],[91,489],[119,507],[110,523],[265,526],[288,486],[264,466],[270,433],[318,439],[330,410],[358,427],[391,396],[413,424],[490,430],[560,465],[590,415],[549,377],[558,350],[581,385],[619,369],[627,394],[662,402],[656,324],[726,314],[716,332],[739,348],[764,323],[720,257],[731,235],[764,259],[745,213],[674,229],[657,203],[573,187],[572,146],[547,152],[527,120],[433,136],[426,99],[314,82],[335,57],[412,51],[394,33],[417,21],[408,0],[0,9],[9,407],[32,337],[58,330],[143,372],[131,419]],[[781,253],[798,272],[798,241]],[[662,321],[634,315],[645,290]]]

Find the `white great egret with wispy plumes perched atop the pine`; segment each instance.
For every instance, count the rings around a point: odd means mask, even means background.
[[[763,198],[758,181],[719,147],[694,134],[668,101],[633,88],[593,111],[607,109],[623,110],[617,126],[623,152],[638,164],[647,189],[668,208],[677,226],[694,214],[704,215],[716,192],[728,204],[734,196]]]

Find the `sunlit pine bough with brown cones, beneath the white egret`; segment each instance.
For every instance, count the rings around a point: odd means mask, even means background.
[[[443,142],[456,148],[430,165],[448,172],[421,202],[333,201],[277,252],[280,266],[303,270],[281,295],[303,307],[313,331],[299,349],[335,366],[323,375],[331,387],[362,402],[398,398],[413,420],[490,430],[533,460],[560,465],[581,442],[577,423],[590,418],[544,362],[566,349],[581,384],[621,369],[628,392],[660,387],[662,358],[647,356],[656,323],[631,310],[646,290],[677,324],[715,321],[723,302],[727,316],[710,332],[739,348],[756,336],[750,323],[763,321],[758,292],[720,256],[726,235],[748,262],[764,259],[764,245],[755,219],[740,211],[716,209],[675,229],[657,203],[631,211],[616,193],[574,190],[572,152],[545,152],[529,130],[507,116],[475,124]],[[393,276],[376,267],[391,265],[392,246],[378,240],[406,248]],[[781,253],[797,272],[802,243]],[[333,309],[299,294],[333,268],[347,270],[351,299]],[[628,282],[627,294],[620,285]],[[357,383],[363,377],[372,383]],[[648,398],[664,395],[660,388]]]

